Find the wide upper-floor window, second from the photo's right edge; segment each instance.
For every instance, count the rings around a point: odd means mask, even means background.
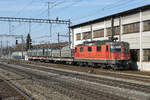
[[[128,34],[128,33],[136,33],[140,31],[140,23],[132,23],[132,24],[127,24],[123,26],[123,33]]]

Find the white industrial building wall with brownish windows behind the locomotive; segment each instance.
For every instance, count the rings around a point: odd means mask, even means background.
[[[130,43],[132,61],[139,70],[150,70],[150,5],[71,26],[72,48],[84,41],[106,40],[112,35]]]

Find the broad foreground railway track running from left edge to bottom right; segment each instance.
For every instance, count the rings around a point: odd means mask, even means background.
[[[0,64],[0,68],[11,71],[13,73],[22,75],[25,78],[30,78],[35,81],[40,81],[44,86],[55,89],[62,94],[76,98],[78,100],[126,100],[126,98],[106,93],[101,90],[96,90],[85,85],[79,85],[78,82],[68,82],[64,79],[54,76],[42,76],[37,73],[20,68],[10,67],[8,65]]]

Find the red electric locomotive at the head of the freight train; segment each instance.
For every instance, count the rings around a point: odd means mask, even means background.
[[[129,44],[116,41],[84,42],[75,47],[74,61],[111,69],[125,69],[130,61]]]

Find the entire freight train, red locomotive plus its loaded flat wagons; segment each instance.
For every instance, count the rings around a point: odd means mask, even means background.
[[[74,56],[73,56],[74,55]],[[29,60],[126,69],[130,61],[129,44],[112,40],[84,42],[75,47],[31,49]]]

